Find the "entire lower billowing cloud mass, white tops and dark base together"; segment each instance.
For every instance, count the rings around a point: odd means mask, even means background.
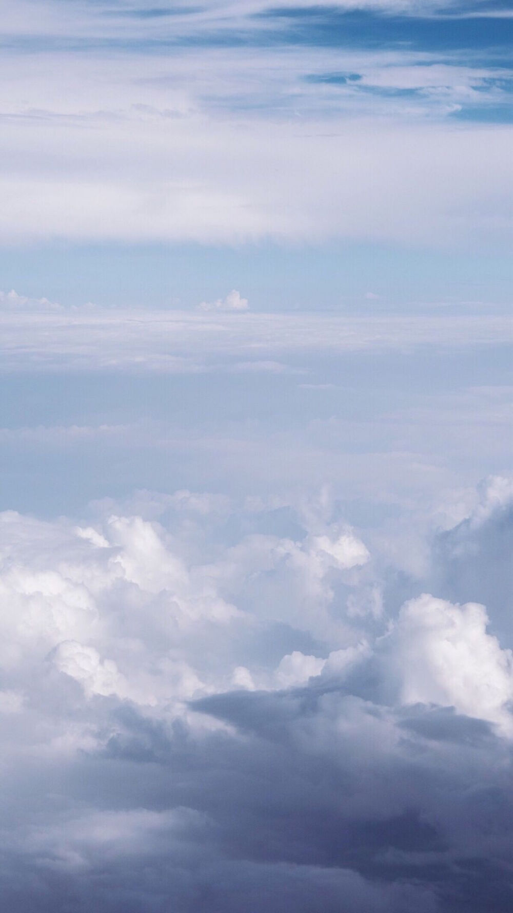
[[[7,907],[510,909],[511,493],[407,582],[314,502],[4,512]]]

